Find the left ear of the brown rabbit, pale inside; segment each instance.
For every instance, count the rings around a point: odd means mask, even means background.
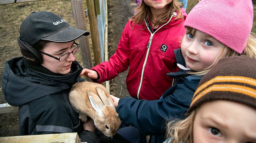
[[[98,97],[96,94],[94,94],[92,91],[88,90],[88,97],[89,100],[92,104],[93,109],[97,112],[97,114],[100,117],[103,117],[103,108],[104,108],[104,104],[102,103],[100,97]]]

